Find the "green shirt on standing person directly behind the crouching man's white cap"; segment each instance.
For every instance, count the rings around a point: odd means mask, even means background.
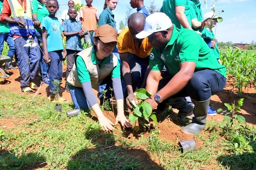
[[[189,0],[163,0],[163,6],[161,7],[160,11],[165,13],[169,18],[172,20],[172,23],[176,25],[177,28],[183,28],[180,22],[178,21],[176,14],[175,14],[175,7],[176,6],[183,6],[185,7],[184,14],[188,19],[188,23],[191,26],[191,17],[190,17],[190,4]]]

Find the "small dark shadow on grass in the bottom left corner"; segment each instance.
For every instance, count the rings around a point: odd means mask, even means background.
[[[45,158],[39,153],[11,154],[7,150],[0,150],[0,169],[31,170],[46,166]]]

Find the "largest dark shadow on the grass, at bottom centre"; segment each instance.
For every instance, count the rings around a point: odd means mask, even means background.
[[[93,148],[78,151],[68,162],[68,170],[159,170],[161,166],[150,159],[150,155],[140,149],[127,149],[118,146],[113,133],[91,129],[85,134]]]

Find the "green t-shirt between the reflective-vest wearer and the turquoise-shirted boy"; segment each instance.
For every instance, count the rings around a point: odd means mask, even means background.
[[[31,1],[33,7],[33,14],[37,14],[38,20],[41,22],[42,19],[49,15],[49,11],[47,10],[45,4],[38,2],[38,0]],[[35,27],[35,30],[41,32],[42,30],[38,27]]]

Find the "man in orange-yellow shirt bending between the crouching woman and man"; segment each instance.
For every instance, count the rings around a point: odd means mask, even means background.
[[[136,88],[145,87],[147,79],[147,67],[152,45],[148,42],[148,38],[138,39],[136,34],[144,29],[145,22],[143,14],[136,12],[129,16],[128,27],[125,28],[118,36],[117,47],[122,61],[123,79],[126,85],[127,98],[126,104],[132,108],[132,100],[136,100],[134,92]],[[143,26],[142,26],[143,25]],[[162,70],[162,76],[165,77],[165,69]],[[158,106],[159,110],[166,108],[166,103],[172,105],[173,108],[179,110],[178,116],[181,119],[192,114],[193,107],[185,102],[182,98],[174,98],[169,102],[163,102]]]

